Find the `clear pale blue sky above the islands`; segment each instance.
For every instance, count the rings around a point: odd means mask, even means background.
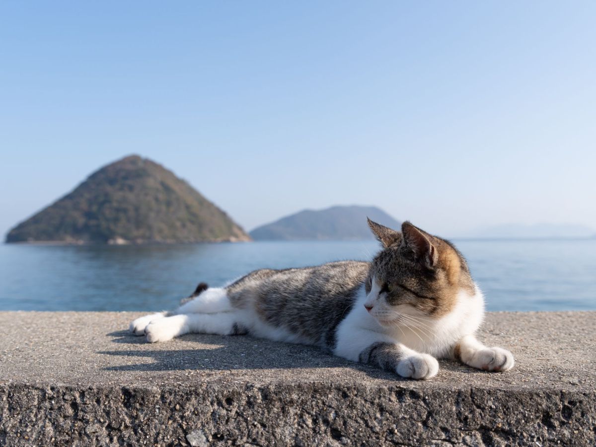
[[[596,228],[596,2],[3,2],[0,231],[126,154],[246,229]]]

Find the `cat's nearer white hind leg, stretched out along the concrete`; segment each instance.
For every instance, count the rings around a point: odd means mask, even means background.
[[[246,327],[241,324],[238,312],[219,313],[183,313],[167,316],[152,321],[145,328],[147,342],[166,342],[184,334],[246,334]]]

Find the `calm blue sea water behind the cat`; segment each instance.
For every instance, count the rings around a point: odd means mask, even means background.
[[[491,311],[596,309],[596,240],[455,241]],[[170,309],[195,285],[257,268],[370,260],[374,242],[0,245],[0,310]]]

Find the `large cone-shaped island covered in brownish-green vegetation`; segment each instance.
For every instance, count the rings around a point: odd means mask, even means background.
[[[7,243],[248,241],[225,212],[160,164],[133,155],[92,173],[18,224]]]

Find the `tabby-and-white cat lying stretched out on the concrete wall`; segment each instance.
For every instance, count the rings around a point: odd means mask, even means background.
[[[201,283],[175,311],[130,329],[151,343],[206,333],[312,344],[414,379],[436,375],[437,358],[510,370],[511,352],[474,336],[484,298],[461,253],[410,222],[401,231],[368,225],[381,244],[372,262],[261,269],[223,288]]]

